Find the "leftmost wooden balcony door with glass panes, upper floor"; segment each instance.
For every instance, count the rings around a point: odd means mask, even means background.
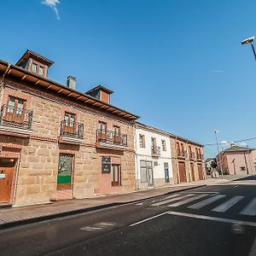
[[[25,118],[25,103],[24,100],[10,96],[6,108],[5,120],[18,124],[23,123]]]

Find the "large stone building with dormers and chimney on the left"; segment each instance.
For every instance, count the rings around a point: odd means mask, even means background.
[[[134,121],[102,85],[86,93],[47,78],[27,50],[0,60],[0,204],[27,206],[135,189]]]

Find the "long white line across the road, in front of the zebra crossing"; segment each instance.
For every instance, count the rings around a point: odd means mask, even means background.
[[[200,219],[218,221],[218,222],[223,222],[223,223],[241,224],[241,225],[256,227],[256,223],[255,222],[251,222],[251,221],[243,221],[243,220],[236,220],[236,219],[229,219],[229,218],[217,218],[217,217],[211,217],[211,216],[206,216],[206,215],[198,215],[198,214],[191,214],[191,213],[185,213],[185,212],[167,212],[167,214],[176,215],[176,216],[182,216],[182,217],[189,217],[189,218],[200,218]]]

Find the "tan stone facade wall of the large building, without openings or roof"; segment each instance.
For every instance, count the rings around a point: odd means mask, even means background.
[[[15,96],[26,101],[26,109],[33,111],[32,134],[29,137],[5,131],[0,135],[0,157],[7,156],[16,161],[10,198],[14,206],[48,203],[60,197],[57,189],[60,154],[73,155],[73,188],[68,194],[71,198],[81,199],[135,189],[134,126],[130,120],[85,108],[72,100],[12,79],[4,80],[0,96],[1,106],[8,103],[9,96]],[[79,144],[59,141],[60,124],[65,112],[75,113],[76,121],[84,124],[84,138]],[[118,125],[120,131],[127,135],[127,147],[122,150],[97,148],[96,129],[99,121],[105,122],[108,129]],[[102,156],[106,155],[121,166],[120,186],[111,185],[110,173],[102,174]],[[61,196],[65,198],[63,193]]]

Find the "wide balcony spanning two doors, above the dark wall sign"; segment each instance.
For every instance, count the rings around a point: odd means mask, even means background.
[[[124,150],[127,147],[127,135],[109,130],[96,130],[96,148]]]

